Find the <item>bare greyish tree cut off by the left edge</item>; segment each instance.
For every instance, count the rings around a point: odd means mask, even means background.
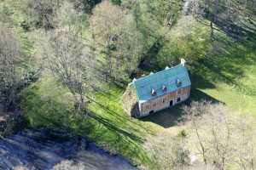
[[[1,23],[0,23],[1,24]],[[15,31],[1,24],[0,27],[0,101],[9,110],[13,106],[18,85],[17,67],[20,43]]]

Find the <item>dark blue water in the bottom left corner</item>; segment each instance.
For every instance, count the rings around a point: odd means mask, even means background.
[[[55,164],[71,160],[95,170],[133,170],[120,156],[110,156],[95,144],[79,137],[56,136],[45,130],[26,130],[0,139],[0,169],[48,170]]]

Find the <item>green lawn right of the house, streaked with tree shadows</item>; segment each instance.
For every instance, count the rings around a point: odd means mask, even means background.
[[[234,42],[218,32],[217,38],[219,40],[214,46],[220,53],[200,59],[193,65],[194,88],[198,87],[236,111],[256,116],[255,36],[247,41]]]

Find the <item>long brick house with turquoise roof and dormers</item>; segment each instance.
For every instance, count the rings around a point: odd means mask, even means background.
[[[131,116],[141,117],[188,99],[191,82],[185,60],[181,59],[179,65],[134,79],[130,86],[137,95],[137,111]]]

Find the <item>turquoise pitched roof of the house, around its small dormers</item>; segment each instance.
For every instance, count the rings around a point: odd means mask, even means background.
[[[177,86],[177,80],[182,82],[179,87]],[[191,82],[187,68],[180,64],[172,68],[166,67],[164,71],[151,73],[146,77],[134,80],[132,84],[136,88],[138,100],[143,103],[176,91],[178,88],[188,87]],[[166,91],[162,90],[163,85],[166,86]],[[151,94],[152,89],[156,91],[156,95]]]

